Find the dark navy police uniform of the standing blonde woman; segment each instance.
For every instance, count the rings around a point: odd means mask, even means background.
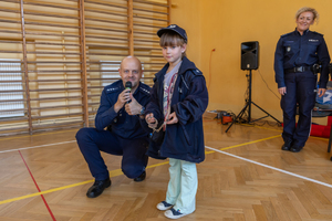
[[[319,62],[322,64],[319,87],[326,88],[330,55],[323,35],[309,30],[303,35],[297,30],[281,35],[274,54],[274,72],[278,88],[287,90],[287,94],[281,97],[282,138],[284,141],[292,140],[297,147],[303,147],[310,134],[311,112],[317,96],[317,74],[312,66]]]

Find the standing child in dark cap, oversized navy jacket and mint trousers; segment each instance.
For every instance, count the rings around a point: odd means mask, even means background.
[[[155,75],[145,119],[162,139],[151,141],[147,155],[169,158],[166,199],[157,209],[166,210],[167,218],[178,219],[196,209],[196,164],[205,159],[201,116],[208,92],[203,73],[186,57],[186,31],[172,24],[157,35],[167,64]]]

